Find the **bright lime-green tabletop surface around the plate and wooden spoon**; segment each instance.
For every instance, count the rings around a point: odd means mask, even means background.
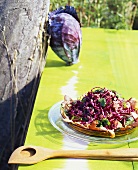
[[[125,98],[138,98],[137,31],[82,29],[80,62],[66,66],[49,48],[25,145],[51,149],[99,149],[138,147],[138,141],[124,144],[85,143],[63,135],[48,119],[49,109],[65,94],[77,98],[92,87],[107,87]],[[51,159],[19,170],[132,170],[137,162],[82,159]]]

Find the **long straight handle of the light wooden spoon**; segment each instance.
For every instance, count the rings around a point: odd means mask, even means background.
[[[66,158],[137,158],[138,148],[100,149],[100,150],[60,150],[51,157]]]

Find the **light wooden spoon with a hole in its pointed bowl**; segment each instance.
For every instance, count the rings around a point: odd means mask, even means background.
[[[21,146],[12,153],[8,163],[35,164],[50,158],[90,158],[97,160],[138,161],[138,148],[52,150],[39,146]]]

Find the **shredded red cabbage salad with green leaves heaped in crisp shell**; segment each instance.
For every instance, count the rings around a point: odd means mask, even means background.
[[[67,122],[78,123],[88,129],[108,131],[137,126],[137,100],[125,100],[115,90],[94,87],[80,99],[64,98],[61,107]]]

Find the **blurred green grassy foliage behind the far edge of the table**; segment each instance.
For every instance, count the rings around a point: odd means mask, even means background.
[[[82,27],[138,29],[138,0],[51,0],[50,11],[74,6]]]

